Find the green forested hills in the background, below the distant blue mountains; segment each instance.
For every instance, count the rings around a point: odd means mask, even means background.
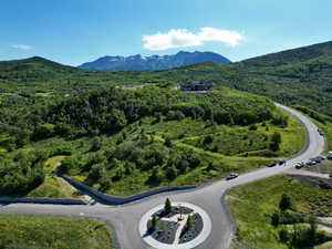
[[[96,86],[133,83],[167,86],[186,80],[210,80],[217,85],[332,115],[332,42],[229,65],[206,62],[165,71],[87,71],[40,58],[0,62],[0,101],[2,105],[33,103],[41,101],[41,96],[77,95],[80,91]]]

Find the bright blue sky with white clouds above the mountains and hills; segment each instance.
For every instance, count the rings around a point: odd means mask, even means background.
[[[231,61],[332,40],[330,0],[1,0],[0,61],[211,51]]]

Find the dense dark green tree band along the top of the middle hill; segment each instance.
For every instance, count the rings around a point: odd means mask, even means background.
[[[203,118],[226,125],[249,125],[271,117],[273,104],[264,97],[227,89],[208,94],[145,87],[142,91],[89,91],[80,96],[52,100],[12,112],[0,110],[0,132],[11,138],[8,149],[52,136],[114,134],[145,116],[168,120]]]

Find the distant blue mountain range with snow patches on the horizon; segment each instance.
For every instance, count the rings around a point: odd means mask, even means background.
[[[165,70],[200,62],[216,62],[220,64],[231,63],[227,58],[212,52],[185,52],[180,51],[173,55],[142,56],[141,54],[131,56],[103,56],[93,62],[80,65],[81,69],[90,70]]]

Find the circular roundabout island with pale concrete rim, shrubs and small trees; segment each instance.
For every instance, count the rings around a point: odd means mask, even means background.
[[[167,210],[158,205],[141,219],[141,238],[158,249],[190,249],[203,243],[211,232],[211,220],[200,207],[189,203],[173,203]],[[168,207],[169,208],[169,207]]]

